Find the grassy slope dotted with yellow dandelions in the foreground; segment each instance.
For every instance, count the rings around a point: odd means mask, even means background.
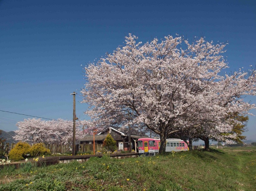
[[[158,157],[90,158],[30,172],[0,171],[0,191],[6,190],[256,190],[256,152],[211,150]],[[6,181],[6,182],[5,182]]]

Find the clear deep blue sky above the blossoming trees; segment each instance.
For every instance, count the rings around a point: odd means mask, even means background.
[[[0,1],[0,110],[45,118],[88,119],[79,103],[83,67],[132,33],[143,43],[179,34],[226,47],[229,71],[255,66],[255,1]],[[83,66],[81,66],[83,65]],[[254,97],[249,97],[256,103]],[[252,113],[256,114],[253,110]],[[0,112],[0,129],[22,115]],[[248,140],[256,140],[255,116]]]

